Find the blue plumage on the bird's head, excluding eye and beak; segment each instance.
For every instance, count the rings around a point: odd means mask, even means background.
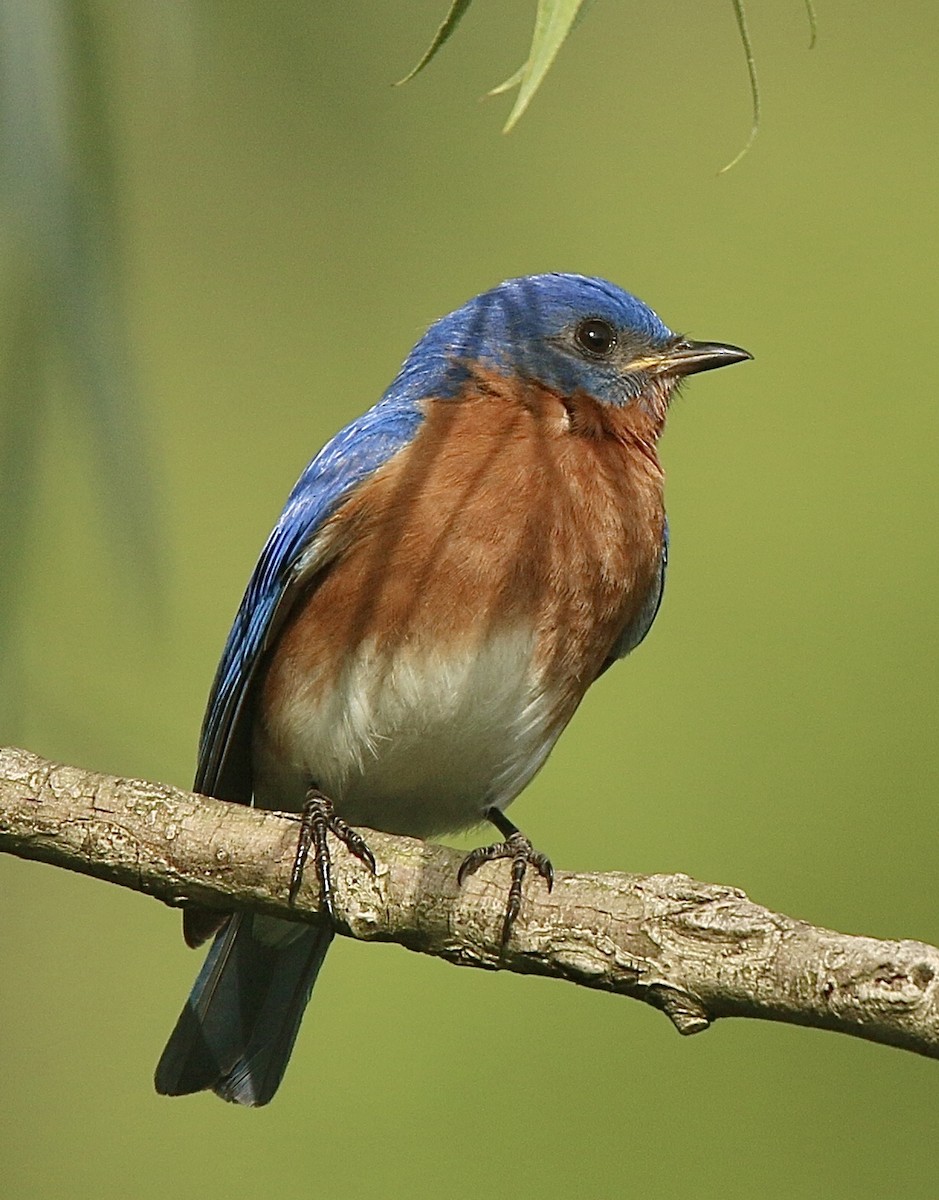
[[[574,342],[588,318],[606,320],[623,348],[638,353],[666,346],[675,334],[634,295],[584,275],[528,275],[508,280],[442,317],[408,355],[389,395],[412,402],[457,395],[473,364],[519,374],[570,395],[587,391],[622,404],[641,388],[623,371],[628,354],[596,361]]]

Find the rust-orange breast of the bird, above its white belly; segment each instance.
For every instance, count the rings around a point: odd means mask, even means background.
[[[563,725],[659,570],[656,433],[634,407],[495,373],[429,401],[413,444],[331,518],[346,548],[295,606],[262,708],[299,678],[334,682],[365,642],[391,664],[533,628]]]

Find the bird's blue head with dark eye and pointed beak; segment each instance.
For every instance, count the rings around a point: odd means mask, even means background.
[[[664,410],[678,382],[740,362],[747,350],[672,332],[641,300],[605,280],[528,275],[442,317],[412,350],[399,384],[418,396],[459,395],[474,366],[570,396]]]

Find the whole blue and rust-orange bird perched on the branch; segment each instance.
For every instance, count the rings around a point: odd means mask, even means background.
[[[312,850],[323,912],[184,911],[186,942],[214,942],[157,1092],[276,1092],[335,931],[328,832],[375,870],[360,827],[491,822],[503,840],[460,881],[510,862],[510,940],[528,868],[549,888],[554,872],[504,810],[662,601],[669,402],[749,358],[605,280],[528,275],[432,324],[312,458],[225,644],[193,791],[300,812],[289,895]]]

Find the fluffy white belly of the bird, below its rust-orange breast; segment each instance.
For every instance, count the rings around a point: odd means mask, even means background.
[[[445,656],[399,644],[390,659],[365,642],[331,684],[297,678],[276,728],[258,731],[257,802],[299,808],[315,781],[352,824],[414,836],[476,824],[518,796],[563,727],[533,642],[508,631]]]

